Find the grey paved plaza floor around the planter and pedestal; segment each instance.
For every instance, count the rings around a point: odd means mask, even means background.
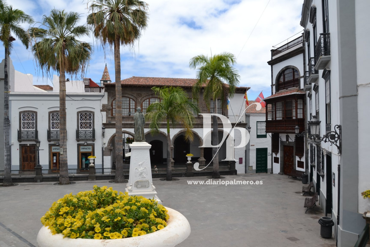
[[[221,181],[263,181],[262,184],[199,185],[188,181],[208,177],[182,177],[178,181],[153,179],[163,205],[182,213],[191,226],[179,246],[333,247],[335,239],[320,237],[317,222],[323,215],[303,207],[302,182],[277,174],[240,174]],[[219,180],[213,180],[219,181]],[[108,180],[77,181],[67,186],[51,182],[19,183],[0,187],[0,247],[37,246],[41,216],[65,194],[92,190],[94,184],[124,191],[126,184]]]

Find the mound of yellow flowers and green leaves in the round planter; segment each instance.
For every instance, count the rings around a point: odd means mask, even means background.
[[[154,199],[128,196],[112,187],[67,194],[41,217],[51,233],[70,238],[137,237],[166,226],[167,210]]]

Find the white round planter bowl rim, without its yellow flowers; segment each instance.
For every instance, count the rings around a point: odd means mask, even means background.
[[[172,247],[184,241],[190,234],[188,220],[176,210],[166,207],[169,219],[167,226],[154,233],[121,239],[63,238],[63,234],[51,234],[48,227],[41,227],[37,234],[38,247]]]

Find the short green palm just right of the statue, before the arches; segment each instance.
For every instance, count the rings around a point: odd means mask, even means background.
[[[148,106],[145,119],[149,121],[152,135],[159,133],[161,123],[167,123],[167,175],[166,180],[172,180],[171,167],[171,137],[169,136],[169,124],[174,127],[181,123],[185,129],[185,138],[192,141],[194,138],[193,123],[194,114],[199,113],[198,105],[189,99],[188,94],[181,87],[152,87],[159,101]]]

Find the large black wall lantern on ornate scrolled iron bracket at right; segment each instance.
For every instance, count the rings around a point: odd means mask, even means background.
[[[320,123],[316,116],[312,116],[312,120],[308,121],[308,126],[311,130],[311,140],[315,143],[330,142],[330,145],[335,145],[338,148],[338,153],[342,153],[342,126],[337,124],[334,126],[334,131],[328,131],[323,137],[320,137]],[[338,130],[338,131],[337,131]]]

